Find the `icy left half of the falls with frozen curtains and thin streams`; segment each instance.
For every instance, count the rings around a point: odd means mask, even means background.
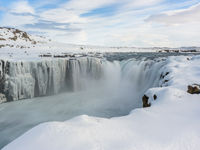
[[[0,63],[1,92],[8,101],[79,90],[85,78],[101,75],[101,60],[95,58],[50,59]]]

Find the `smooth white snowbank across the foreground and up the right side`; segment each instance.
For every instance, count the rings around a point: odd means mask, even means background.
[[[200,56],[170,57],[163,87],[149,89],[151,107],[111,119],[76,117],[38,125],[3,150],[197,150],[200,149]],[[167,81],[169,80],[169,81]],[[157,99],[153,100],[153,95]]]

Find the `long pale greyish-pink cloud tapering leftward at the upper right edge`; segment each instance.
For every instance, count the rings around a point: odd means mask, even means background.
[[[187,9],[175,10],[157,15],[151,15],[147,22],[158,22],[166,25],[179,25],[188,22],[200,22],[200,3]]]

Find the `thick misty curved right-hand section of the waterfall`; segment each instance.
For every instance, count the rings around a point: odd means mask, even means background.
[[[145,91],[151,87],[159,86],[159,70],[165,65],[165,61],[158,60],[136,60],[106,61],[103,64],[104,94],[114,96],[113,104],[121,105],[123,108],[141,107],[141,99]]]

